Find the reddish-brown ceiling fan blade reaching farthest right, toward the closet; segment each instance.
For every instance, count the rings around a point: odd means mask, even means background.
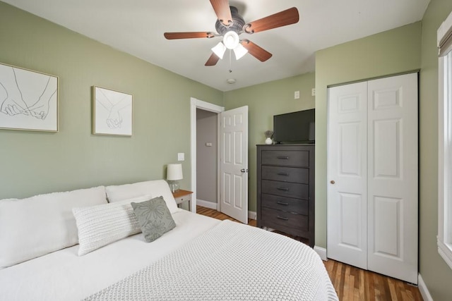
[[[254,22],[244,25],[244,31],[246,33],[261,32],[264,30],[270,30],[276,27],[295,24],[299,20],[298,10],[296,7],[280,11],[273,15],[261,18]]]

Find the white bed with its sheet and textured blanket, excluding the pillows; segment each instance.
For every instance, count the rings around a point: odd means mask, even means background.
[[[176,227],[153,242],[138,233],[83,256],[73,245],[0,269],[0,300],[338,300],[321,259],[301,242],[168,207]],[[153,279],[146,284],[145,270]],[[267,297],[259,295],[263,288]]]

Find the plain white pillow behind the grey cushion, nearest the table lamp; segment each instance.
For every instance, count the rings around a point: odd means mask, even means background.
[[[169,185],[165,180],[150,180],[133,184],[112,185],[105,188],[107,198],[110,203],[119,202],[124,199],[150,195],[151,197],[162,196],[172,214],[177,211],[177,204],[174,200]]]

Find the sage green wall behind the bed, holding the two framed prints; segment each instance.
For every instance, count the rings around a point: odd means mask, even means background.
[[[0,130],[0,199],[165,177],[184,152],[190,97],[222,92],[0,2],[0,62],[59,76],[59,133]],[[133,94],[133,136],[91,134],[93,85]]]

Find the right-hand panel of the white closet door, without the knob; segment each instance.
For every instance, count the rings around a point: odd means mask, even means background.
[[[368,269],[417,283],[417,73],[368,82]]]

